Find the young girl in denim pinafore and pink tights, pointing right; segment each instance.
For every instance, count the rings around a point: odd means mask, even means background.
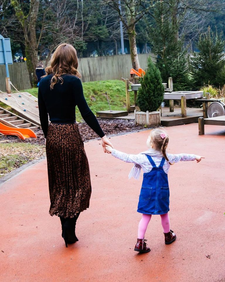
[[[176,240],[176,234],[170,229],[168,216],[169,209],[169,185],[168,170],[171,164],[179,161],[200,162],[203,157],[189,154],[172,155],[166,153],[169,137],[161,129],[153,129],[146,142],[149,150],[138,155],[129,155],[106,146],[106,151],[112,156],[125,161],[134,163],[129,178],[139,178],[141,168],[144,170],[144,179],[139,196],[137,212],[142,213],[142,219],[138,226],[138,239],[134,251],[147,253],[150,250],[146,246],[144,234],[151,219],[152,214],[161,216],[165,244],[171,244]]]

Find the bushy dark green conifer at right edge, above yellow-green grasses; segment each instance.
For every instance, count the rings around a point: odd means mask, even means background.
[[[200,35],[197,48],[199,52],[194,52],[190,57],[190,73],[193,84],[196,88],[211,84],[215,87],[225,84],[225,58],[224,40],[221,35],[214,36],[208,28],[206,33]]]

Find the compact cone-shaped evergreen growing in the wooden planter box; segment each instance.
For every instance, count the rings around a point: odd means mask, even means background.
[[[159,69],[148,58],[146,74],[140,78],[141,88],[137,94],[137,105],[143,112],[156,111],[163,102],[164,87]]]

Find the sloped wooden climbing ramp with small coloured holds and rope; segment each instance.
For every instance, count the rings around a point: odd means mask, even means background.
[[[38,98],[28,92],[2,94],[0,93],[0,101],[17,112],[20,117],[40,125]]]

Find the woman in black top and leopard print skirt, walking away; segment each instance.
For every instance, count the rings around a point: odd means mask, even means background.
[[[38,88],[40,122],[46,138],[49,213],[60,217],[66,247],[78,241],[76,220],[89,207],[91,197],[88,160],[76,124],[76,105],[83,119],[101,137],[104,152],[105,146],[111,144],[86,103],[77,67],[74,47],[59,45]]]

